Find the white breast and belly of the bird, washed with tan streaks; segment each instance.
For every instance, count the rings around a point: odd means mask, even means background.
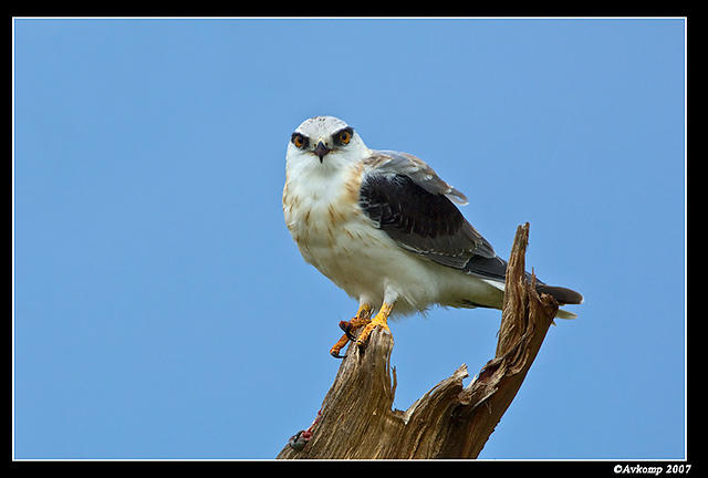
[[[493,289],[404,250],[376,228],[358,206],[363,172],[362,163],[327,168],[326,158],[288,165],[283,212],[305,261],[360,302],[379,306],[393,291],[403,314],[434,303],[459,306]]]

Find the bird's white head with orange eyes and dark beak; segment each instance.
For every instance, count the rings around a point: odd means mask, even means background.
[[[369,152],[353,127],[334,116],[315,116],[302,122],[288,143],[288,167],[329,174],[351,166]]]

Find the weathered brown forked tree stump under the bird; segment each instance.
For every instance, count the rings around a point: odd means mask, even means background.
[[[477,458],[535,360],[558,302],[524,274],[529,224],[519,226],[506,278],[496,356],[467,386],[462,364],[407,411],[392,409],[393,337],[376,329],[366,349],[350,346],[317,418],[279,459]],[[304,444],[304,447],[302,446]]]

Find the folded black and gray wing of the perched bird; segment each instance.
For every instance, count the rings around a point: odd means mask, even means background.
[[[372,152],[364,164],[360,206],[376,227],[437,263],[504,280],[507,263],[452,204],[462,193],[413,155]]]

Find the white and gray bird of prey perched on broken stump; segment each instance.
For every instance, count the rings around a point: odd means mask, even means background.
[[[306,262],[358,301],[352,321],[340,323],[345,334],[333,356],[348,340],[364,345],[376,326],[391,332],[392,314],[434,304],[502,308],[507,262],[456,207],[466,196],[421,159],[369,149],[342,119],[316,116],[292,133],[285,162],[282,200],[292,238]],[[560,304],[583,300],[540,281],[537,289]]]

